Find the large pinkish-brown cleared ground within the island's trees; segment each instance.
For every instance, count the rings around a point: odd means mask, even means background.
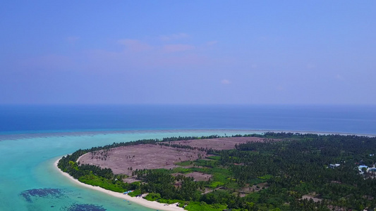
[[[264,141],[264,139],[257,137],[228,137],[219,139],[171,141],[171,143],[198,148],[224,150],[235,148],[236,143],[246,143],[247,141]],[[204,151],[172,148],[154,144],[140,144],[111,148],[107,151],[87,153],[81,156],[78,161],[80,164],[98,165],[99,167],[111,168],[114,174],[127,174],[131,176],[132,170],[159,168],[171,169],[177,167],[177,165],[175,165],[176,162],[197,160],[198,158],[205,158],[206,156],[207,154]]]

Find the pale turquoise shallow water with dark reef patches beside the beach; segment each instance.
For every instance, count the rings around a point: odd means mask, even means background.
[[[79,148],[169,136],[247,134],[245,131],[170,131],[74,134],[0,141],[0,210],[152,210],[74,184],[54,167]],[[248,132],[250,133],[250,132]],[[59,194],[58,194],[59,193]]]

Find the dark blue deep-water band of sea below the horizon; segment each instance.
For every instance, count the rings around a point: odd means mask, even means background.
[[[376,106],[0,106],[0,134],[150,129],[376,134]]]

